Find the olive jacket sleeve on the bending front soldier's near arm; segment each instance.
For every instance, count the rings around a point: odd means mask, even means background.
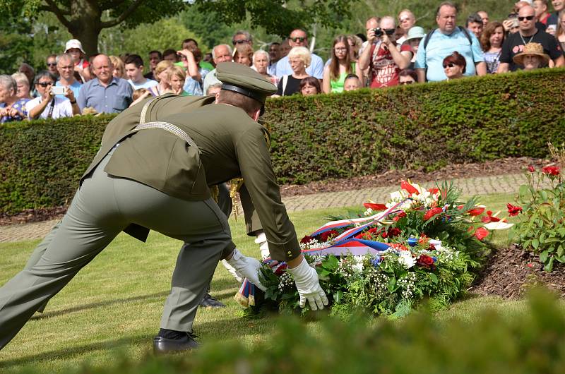
[[[246,189],[267,236],[271,258],[279,261],[297,258],[300,246],[295,227],[281,202],[280,188],[259,125],[239,135],[235,147]]]

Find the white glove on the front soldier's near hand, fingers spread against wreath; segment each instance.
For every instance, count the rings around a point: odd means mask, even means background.
[[[323,306],[328,305],[328,297],[320,286],[318,273],[308,265],[305,258],[302,258],[300,265],[287,267],[287,270],[292,277],[295,277],[296,288],[300,295],[300,308],[304,308],[307,300],[311,310],[323,309]]]

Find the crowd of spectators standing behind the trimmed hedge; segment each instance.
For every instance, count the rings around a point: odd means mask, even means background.
[[[551,9],[552,8],[552,9]],[[50,54],[44,70],[21,64],[0,75],[0,123],[23,119],[116,113],[151,97],[215,95],[221,88],[215,66],[234,61],[251,66],[278,91],[275,96],[340,93],[359,88],[453,80],[507,71],[565,65],[565,0],[518,1],[504,20],[485,11],[458,26],[458,11],[445,1],[436,28],[424,30],[405,9],[398,16],[373,16],[357,35],[337,35],[324,64],[305,30],[254,47],[252,35],[237,31],[230,44],[203,55],[194,39],[180,49],[138,54],[87,56],[78,40]]]

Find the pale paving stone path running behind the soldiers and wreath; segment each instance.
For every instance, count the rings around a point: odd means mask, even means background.
[[[523,174],[484,176],[453,179],[453,183],[461,188],[465,196],[513,193],[518,191],[518,186],[525,183],[525,177]],[[434,186],[434,183],[428,182],[423,183],[423,185],[430,188]],[[288,212],[300,212],[323,207],[348,207],[361,205],[369,199],[376,202],[385,202],[389,198],[388,194],[398,189],[399,186],[386,186],[363,188],[356,191],[316,193],[284,198],[283,203],[285,203]],[[57,220],[2,226],[0,227],[0,243],[42,238],[55,223],[57,223]]]

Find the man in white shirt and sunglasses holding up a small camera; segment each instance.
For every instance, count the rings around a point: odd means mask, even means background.
[[[35,89],[40,96],[25,103],[25,111],[30,119],[57,119],[81,114],[73,90],[55,87],[54,84],[55,77],[49,71],[41,71],[35,76]],[[64,98],[55,95],[64,95]]]

